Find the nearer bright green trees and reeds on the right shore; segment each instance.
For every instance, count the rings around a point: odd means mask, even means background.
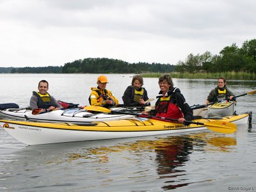
[[[177,72],[217,73],[256,72],[256,39],[245,41],[241,48],[236,44],[224,47],[220,55],[206,51],[204,54],[189,54],[185,61],[177,63]]]

